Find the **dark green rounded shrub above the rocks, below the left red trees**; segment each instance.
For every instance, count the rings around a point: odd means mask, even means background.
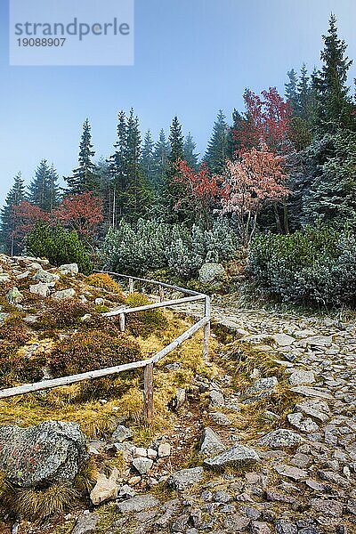
[[[77,263],[79,271],[89,274],[92,262],[76,231],[47,223],[36,223],[26,239],[29,254],[47,258],[53,265]]]

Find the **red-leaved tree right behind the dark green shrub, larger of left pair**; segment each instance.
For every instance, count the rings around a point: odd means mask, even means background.
[[[64,198],[60,206],[53,210],[51,218],[53,223],[61,223],[70,230],[91,238],[104,218],[102,200],[91,191]]]

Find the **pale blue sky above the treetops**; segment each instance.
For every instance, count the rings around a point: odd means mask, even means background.
[[[9,67],[7,4],[0,0],[1,204],[13,175],[28,182],[42,158],[70,174],[85,117],[98,158],[115,142],[117,111],[131,107],[155,138],[178,115],[204,152],[218,109],[230,119],[246,87],[283,91],[288,69],[320,64],[330,12],[356,61],[354,0],[136,0],[134,67]],[[355,76],[356,63],[350,84]]]

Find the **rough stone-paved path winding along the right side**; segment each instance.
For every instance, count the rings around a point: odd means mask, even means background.
[[[190,315],[198,315],[199,310],[197,304],[180,307]],[[261,453],[263,471],[249,474],[253,484],[247,480],[241,500],[247,501],[255,522],[264,518],[264,525],[254,527],[252,522],[250,530],[356,532],[355,322],[239,310],[231,295],[213,302],[212,320],[234,330],[242,343],[276,355],[286,368],[290,390],[300,398],[287,415],[284,430],[256,442],[257,449],[268,449]],[[256,378],[249,392],[239,392],[239,401],[254,401],[276,386],[274,377]],[[276,475],[279,482],[273,488]]]

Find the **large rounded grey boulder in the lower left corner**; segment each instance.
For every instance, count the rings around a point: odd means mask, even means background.
[[[85,436],[77,423],[0,426],[0,470],[22,488],[73,482],[87,459]]]

